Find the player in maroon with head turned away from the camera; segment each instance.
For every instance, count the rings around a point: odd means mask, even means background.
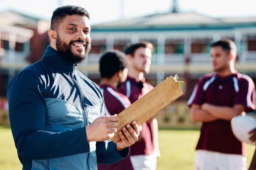
[[[125,82],[128,73],[128,59],[125,53],[112,50],[105,52],[100,58],[100,88],[105,101],[105,114],[115,115],[131,105],[129,99],[117,91]],[[99,170],[133,170],[129,155],[112,165],[98,165]]]

